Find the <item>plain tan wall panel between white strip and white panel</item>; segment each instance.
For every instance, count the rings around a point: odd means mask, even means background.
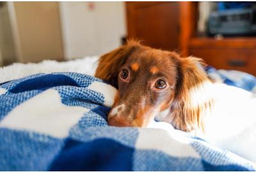
[[[57,2],[8,2],[20,62],[61,61],[63,47]]]

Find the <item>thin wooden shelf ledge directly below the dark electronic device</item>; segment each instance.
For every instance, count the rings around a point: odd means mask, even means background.
[[[191,38],[189,41],[189,47],[191,48],[256,48],[256,37],[232,37],[215,39],[211,37],[204,38]]]

